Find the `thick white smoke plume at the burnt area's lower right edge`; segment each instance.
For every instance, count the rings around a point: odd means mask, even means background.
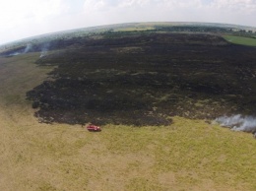
[[[233,131],[244,131],[256,134],[256,118],[253,116],[242,116],[237,114],[229,117],[219,117],[216,121]]]

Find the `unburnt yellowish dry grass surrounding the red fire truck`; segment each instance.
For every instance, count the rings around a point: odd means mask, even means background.
[[[26,93],[50,68],[0,58],[0,190],[256,190],[256,142],[201,120],[166,127],[40,124]]]

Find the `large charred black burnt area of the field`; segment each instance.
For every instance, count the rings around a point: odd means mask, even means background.
[[[218,35],[97,34],[69,39],[36,64],[57,66],[27,94],[40,122],[142,126],[256,114],[256,48]]]

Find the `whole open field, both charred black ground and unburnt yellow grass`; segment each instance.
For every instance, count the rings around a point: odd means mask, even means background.
[[[255,48],[131,29],[0,55],[0,190],[256,190]]]

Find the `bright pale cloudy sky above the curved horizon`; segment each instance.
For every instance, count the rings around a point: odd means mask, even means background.
[[[0,44],[42,33],[134,22],[256,27],[256,0],[0,0]]]

